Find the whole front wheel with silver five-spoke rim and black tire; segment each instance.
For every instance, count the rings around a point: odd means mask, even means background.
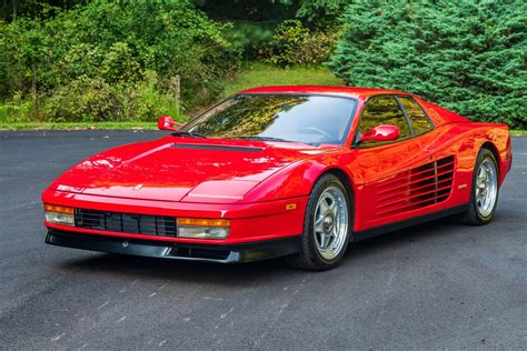
[[[296,268],[322,271],[334,268],[348,247],[351,198],[332,174],[321,177],[309,197],[304,221],[302,249],[286,258]]]

